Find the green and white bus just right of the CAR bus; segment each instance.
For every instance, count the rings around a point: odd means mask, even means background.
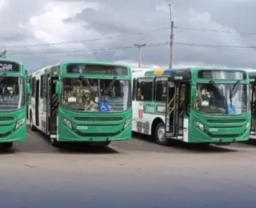
[[[107,146],[131,139],[131,70],[106,62],[61,62],[31,74],[30,127],[60,142]]]

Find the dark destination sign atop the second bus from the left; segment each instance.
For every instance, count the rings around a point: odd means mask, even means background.
[[[68,73],[72,74],[128,74],[128,70],[124,66],[108,66],[100,64],[70,64],[66,67],[66,70]]]

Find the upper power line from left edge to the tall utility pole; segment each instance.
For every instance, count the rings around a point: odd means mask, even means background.
[[[53,42],[53,43],[42,43],[42,44],[33,44],[33,45],[20,45],[20,46],[0,46],[2,48],[20,48],[20,47],[33,47],[33,46],[57,46],[57,45],[65,45],[65,44],[71,44],[71,43],[81,43],[81,42],[94,42],[94,41],[102,41],[102,40],[108,40],[108,39],[114,39],[114,38],[121,38],[124,35],[138,35],[138,34],[148,34],[153,33],[161,30],[169,30],[170,27],[162,27],[154,30],[144,30],[142,32],[137,33],[124,33],[124,34],[118,34],[116,36],[109,36],[105,38],[91,38],[91,39],[84,39],[84,40],[78,40],[78,41],[70,41],[70,42]]]

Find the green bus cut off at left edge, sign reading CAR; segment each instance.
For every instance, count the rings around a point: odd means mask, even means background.
[[[30,86],[22,62],[0,58],[0,142],[10,149],[26,141],[26,112]]]

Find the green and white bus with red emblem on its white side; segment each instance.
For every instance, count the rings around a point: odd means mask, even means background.
[[[230,144],[250,136],[250,80],[244,70],[186,68],[133,72],[134,132],[187,143]]]

